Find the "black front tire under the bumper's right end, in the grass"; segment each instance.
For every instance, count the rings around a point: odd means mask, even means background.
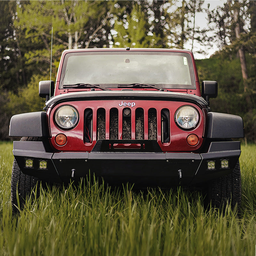
[[[241,194],[241,172],[238,160],[231,174],[212,181],[208,190],[208,199],[216,208],[225,210],[226,206],[230,205],[234,210],[237,205],[237,210],[239,210]]]

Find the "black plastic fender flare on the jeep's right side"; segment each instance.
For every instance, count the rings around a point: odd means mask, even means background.
[[[207,138],[244,138],[244,122],[241,116],[208,113]]]

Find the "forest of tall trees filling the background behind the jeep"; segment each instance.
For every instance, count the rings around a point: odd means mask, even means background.
[[[38,82],[52,80],[65,49],[178,48],[196,60],[200,83],[218,82],[214,112],[240,115],[245,141],[256,142],[256,1],[0,1],[0,140],[12,115],[42,111]],[[207,14],[208,28],[196,26]],[[201,47],[195,47],[199,45]],[[201,50],[198,50],[201,49]]]

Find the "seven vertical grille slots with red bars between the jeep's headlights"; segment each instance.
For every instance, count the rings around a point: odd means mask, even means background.
[[[146,113],[145,113],[146,112]],[[96,115],[96,116],[95,116]],[[96,136],[93,120],[96,118]],[[160,124],[160,125],[159,125]],[[96,137],[96,138],[94,138]],[[157,140],[170,142],[170,111],[167,108],[98,108],[84,111],[84,142],[95,140]]]

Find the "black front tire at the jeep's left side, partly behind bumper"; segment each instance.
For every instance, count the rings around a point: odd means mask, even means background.
[[[39,141],[38,137],[22,137],[22,141]],[[20,205],[20,210],[24,208],[25,200],[27,196],[30,196],[31,190],[34,189],[38,183],[36,177],[23,174],[14,159],[12,166],[12,180],[11,180],[11,201],[12,201],[12,214],[18,214],[18,206]],[[39,186],[37,185],[36,195],[39,195]],[[17,193],[18,192],[18,193]],[[18,194],[18,197],[17,197]],[[18,204],[19,200],[19,204]]]

